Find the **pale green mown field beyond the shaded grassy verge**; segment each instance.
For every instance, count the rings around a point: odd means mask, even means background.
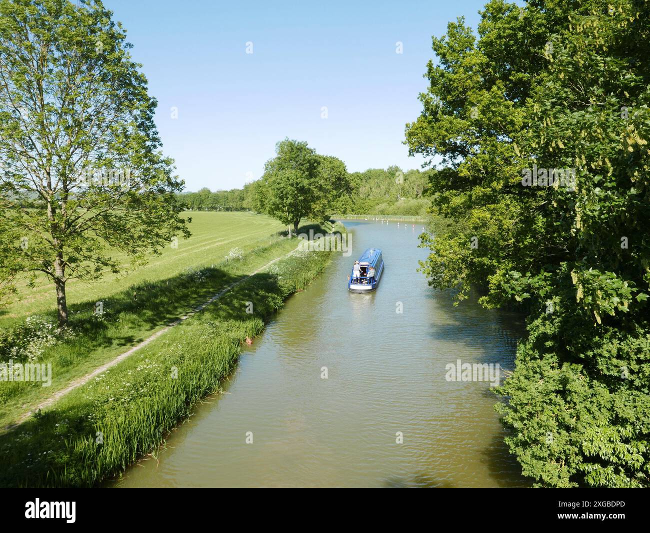
[[[209,211],[185,213],[192,218],[189,224],[192,237],[179,239],[177,248],[172,243],[153,256],[147,265],[127,274],[106,274],[100,281],[85,283],[77,279],[68,281],[66,296],[73,307],[81,302],[99,302],[123,291],[129,285],[173,278],[188,268],[201,268],[219,263],[229,250],[240,248],[244,252],[285,229],[285,226],[268,216],[253,213],[214,213]],[[120,257],[116,253],[116,257]],[[125,263],[127,263],[125,259]],[[53,313],[56,307],[53,283],[45,276],[36,287],[19,288],[12,304],[0,307],[0,328],[9,326],[29,315]]]

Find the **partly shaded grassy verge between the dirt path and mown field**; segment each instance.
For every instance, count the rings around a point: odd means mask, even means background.
[[[49,396],[65,389],[205,302],[227,285],[290,252],[296,242],[267,235],[248,252],[236,252],[216,265],[188,268],[176,276],[131,285],[96,302],[70,307],[70,325],[57,331],[53,315],[30,317],[0,331],[0,361],[51,363],[52,383],[0,382],[0,429],[14,423]]]

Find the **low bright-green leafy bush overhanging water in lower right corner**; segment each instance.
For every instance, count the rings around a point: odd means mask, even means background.
[[[523,474],[540,486],[647,487],[650,335],[539,315],[497,404]],[[586,319],[586,320],[585,320]],[[595,335],[595,336],[594,336]],[[558,337],[575,341],[558,346]]]

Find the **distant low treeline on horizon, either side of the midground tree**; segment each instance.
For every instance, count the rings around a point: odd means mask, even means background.
[[[348,174],[352,190],[336,203],[338,214],[404,214],[422,215],[430,201],[424,199],[429,175],[435,170],[403,171],[398,166],[370,168]],[[255,211],[255,184],[244,188],[218,190],[201,188],[198,192],[177,194],[189,211]]]

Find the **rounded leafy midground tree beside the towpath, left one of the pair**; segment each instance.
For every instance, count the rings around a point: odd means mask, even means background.
[[[265,213],[298,231],[303,218],[322,205],[325,191],[318,172],[320,159],[306,142],[281,140],[276,157],[266,162],[261,187]]]

